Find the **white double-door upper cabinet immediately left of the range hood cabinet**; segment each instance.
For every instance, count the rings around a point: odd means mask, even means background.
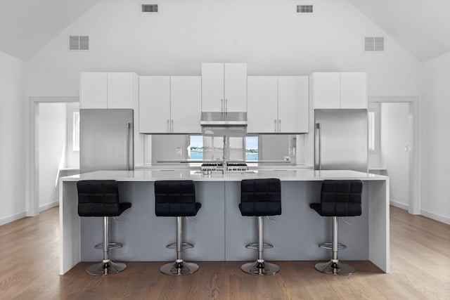
[[[140,133],[200,133],[200,76],[139,77]]]

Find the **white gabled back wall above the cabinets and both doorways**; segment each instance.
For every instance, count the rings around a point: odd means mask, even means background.
[[[420,63],[345,0],[101,1],[27,63],[29,96],[78,96],[80,71],[200,75],[201,63],[245,62],[249,75],[367,71],[369,95],[419,95]],[[68,51],[88,34],[90,51]],[[364,36],[385,36],[385,53],[364,53]]]

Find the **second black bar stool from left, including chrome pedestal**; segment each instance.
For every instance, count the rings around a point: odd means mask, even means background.
[[[181,217],[196,216],[201,203],[195,202],[193,181],[155,181],[155,215],[176,216],[176,243],[167,248],[176,249],[176,261],[166,263],[160,268],[167,275],[186,275],[198,270],[198,265],[183,261],[183,249],[192,248],[193,244],[181,240]]]

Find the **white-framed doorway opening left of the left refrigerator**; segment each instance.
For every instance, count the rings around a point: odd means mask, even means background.
[[[79,152],[72,145],[78,105],[78,97],[30,97],[27,216],[57,206],[59,178],[79,173]]]

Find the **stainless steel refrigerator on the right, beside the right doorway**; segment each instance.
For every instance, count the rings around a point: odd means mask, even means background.
[[[368,169],[367,110],[314,111],[314,169]]]

